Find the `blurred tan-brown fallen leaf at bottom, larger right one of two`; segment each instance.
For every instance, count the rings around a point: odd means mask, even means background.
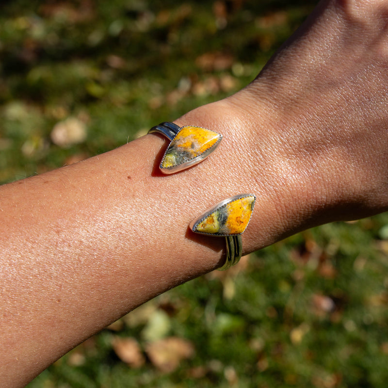
[[[146,353],[152,364],[167,373],[175,371],[182,360],[194,356],[194,346],[187,339],[168,337],[150,342]]]

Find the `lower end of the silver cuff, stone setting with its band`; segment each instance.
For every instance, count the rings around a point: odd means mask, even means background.
[[[190,224],[195,233],[226,238],[226,261],[220,270],[228,269],[241,259],[241,235],[249,224],[255,200],[254,194],[234,195],[206,210]]]

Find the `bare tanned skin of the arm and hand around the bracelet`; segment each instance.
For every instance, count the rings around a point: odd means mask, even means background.
[[[224,139],[171,176],[143,138],[0,188],[0,376],[23,387],[134,307],[221,266],[190,222],[257,196],[244,254],[388,209],[388,1],[322,1],[258,78],[176,120]],[[184,184],[182,184],[184,182]],[[220,184],[220,182],[222,184]]]

